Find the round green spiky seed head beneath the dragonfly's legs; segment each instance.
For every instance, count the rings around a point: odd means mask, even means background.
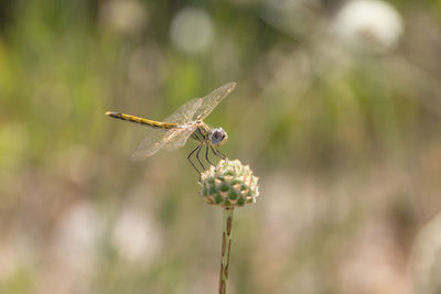
[[[222,207],[244,206],[259,196],[258,177],[239,160],[222,160],[201,174],[201,195],[207,204]]]

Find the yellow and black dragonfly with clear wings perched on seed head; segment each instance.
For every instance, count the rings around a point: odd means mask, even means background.
[[[121,112],[107,111],[106,115],[129,122],[135,122],[149,127],[148,134],[141,141],[132,155],[133,161],[144,160],[155,154],[161,149],[171,151],[185,145],[189,138],[198,142],[197,146],[187,155],[189,162],[198,174],[192,156],[195,156],[203,171],[205,166],[201,161],[200,153],[205,145],[205,160],[214,165],[208,157],[209,150],[216,156],[226,159],[227,156],[218,149],[228,140],[228,134],[223,128],[211,128],[203,120],[216,108],[216,106],[236,87],[232,81],[213,90],[202,98],[194,98],[181,106],[176,111],[163,121],[144,119]]]

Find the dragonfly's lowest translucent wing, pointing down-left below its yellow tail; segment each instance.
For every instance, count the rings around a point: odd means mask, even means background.
[[[169,132],[163,129],[149,129],[147,137],[138,145],[131,159],[142,161],[157,153],[166,143],[164,138]]]

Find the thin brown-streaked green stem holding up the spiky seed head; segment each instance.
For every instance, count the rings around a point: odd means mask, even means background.
[[[222,255],[220,255],[220,275],[219,275],[219,294],[226,294],[228,268],[229,268],[229,251],[232,250],[233,240],[233,207],[224,208],[224,229],[222,232]]]

